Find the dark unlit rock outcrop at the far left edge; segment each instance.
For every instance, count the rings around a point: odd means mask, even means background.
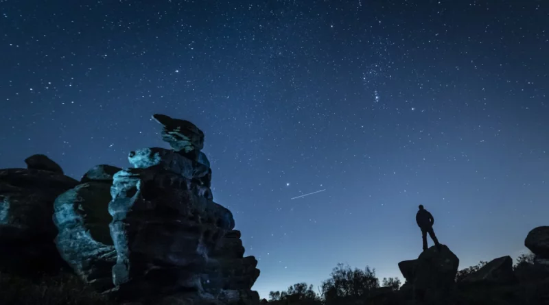
[[[25,160],[28,169],[0,170],[0,270],[30,275],[58,271],[51,215],[54,200],[78,181],[43,155]]]

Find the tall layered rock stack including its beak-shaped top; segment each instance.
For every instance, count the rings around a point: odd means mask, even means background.
[[[130,152],[134,168],[118,171],[110,189],[110,236],[117,253],[113,292],[135,300],[163,295],[178,300],[255,304],[250,290],[257,260],[243,258],[240,232],[229,210],[213,202],[204,134],[189,121],[155,114],[159,147]],[[190,301],[189,301],[190,302]]]

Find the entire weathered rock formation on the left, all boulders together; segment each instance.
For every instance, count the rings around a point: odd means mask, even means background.
[[[128,169],[100,164],[78,182],[37,154],[0,170],[0,272],[66,267],[124,304],[259,304],[257,260],[213,202],[204,133],[153,118],[172,149],[131,151]]]

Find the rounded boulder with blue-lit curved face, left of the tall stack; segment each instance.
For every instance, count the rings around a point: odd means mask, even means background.
[[[75,273],[98,291],[114,287],[117,255],[108,228],[110,200],[110,184],[92,181],[62,193],[55,202],[57,249]]]

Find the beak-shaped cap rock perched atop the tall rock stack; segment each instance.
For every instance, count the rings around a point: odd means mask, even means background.
[[[176,151],[189,153],[204,147],[204,132],[189,121],[172,119],[164,114],[154,114],[154,120],[163,125],[162,139]]]

